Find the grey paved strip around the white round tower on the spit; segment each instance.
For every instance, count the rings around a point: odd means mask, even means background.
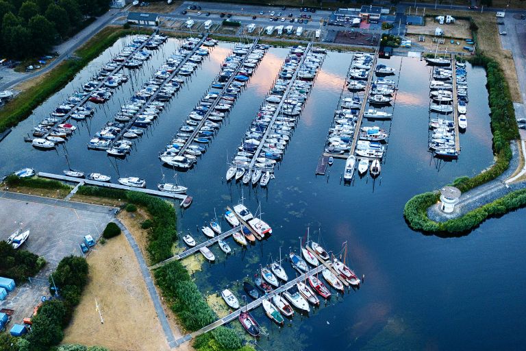
[[[508,182],[506,182],[519,165],[518,147],[516,143],[512,143],[512,152],[513,158],[510,161],[510,167],[508,167],[504,173],[486,184],[477,186],[475,189],[466,191],[466,193],[462,193],[458,204],[455,205],[453,213],[443,213],[439,208],[439,204],[434,204],[429,207],[427,210],[427,216],[429,219],[443,222],[448,219],[457,218],[466,215],[466,213],[475,210],[475,208],[494,202],[494,200],[499,199],[499,197],[503,197],[512,191],[525,189],[526,182],[518,182],[514,184],[508,184]]]

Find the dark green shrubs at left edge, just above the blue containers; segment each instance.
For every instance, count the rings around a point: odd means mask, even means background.
[[[0,276],[24,282],[45,265],[44,258],[27,250],[14,250],[10,244],[0,241]]]

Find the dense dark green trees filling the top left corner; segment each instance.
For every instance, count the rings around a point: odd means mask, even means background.
[[[109,0],[0,0],[0,47],[9,58],[44,55],[109,7]]]

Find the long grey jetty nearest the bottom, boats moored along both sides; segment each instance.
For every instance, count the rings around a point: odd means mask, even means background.
[[[297,282],[304,281],[304,280],[307,279],[308,276],[313,276],[314,274],[318,274],[321,271],[323,271],[323,269],[325,269],[325,266],[324,265],[319,265],[318,267],[316,267],[314,269],[311,269],[307,273],[301,274],[300,276],[298,276],[297,278],[295,278],[293,280],[289,280],[284,285],[281,285],[281,287],[276,288],[275,290],[271,291],[270,293],[266,293],[261,298],[258,298],[258,300],[254,300],[254,301],[250,302],[249,304],[247,304],[246,306],[242,306],[241,308],[238,308],[236,311],[230,313],[229,315],[227,315],[227,316],[225,316],[225,317],[223,317],[221,319],[218,319],[216,322],[214,322],[212,324],[209,324],[208,326],[205,326],[204,328],[201,328],[201,329],[199,329],[199,330],[197,330],[195,332],[192,332],[191,334],[185,335],[181,339],[176,340],[175,343],[177,343],[177,345],[180,345],[181,343],[184,343],[185,341],[190,341],[192,338],[195,338],[195,337],[197,337],[197,336],[199,336],[201,334],[204,334],[205,332],[209,332],[210,330],[214,330],[218,326],[223,326],[224,324],[227,324],[227,323],[233,321],[234,319],[236,319],[237,317],[239,317],[239,315],[240,315],[240,313],[242,311],[251,311],[254,308],[257,308],[258,306],[260,306],[260,304],[263,303],[264,300],[269,300],[269,299],[273,298],[273,296],[278,295],[280,293],[283,293],[284,291],[286,291],[286,290],[290,289],[291,287],[293,287],[294,285],[296,285]]]

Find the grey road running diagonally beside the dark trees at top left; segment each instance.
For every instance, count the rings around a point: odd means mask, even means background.
[[[53,67],[60,64],[60,62],[66,60],[66,58],[69,58],[75,50],[77,50],[84,43],[86,43],[86,41],[89,40],[92,36],[97,34],[101,29],[103,29],[103,27],[110,24],[116,18],[115,15],[119,14],[120,12],[121,9],[110,9],[108,12],[96,19],[93,23],[88,25],[88,27],[82,29],[82,31],[75,34],[73,38],[69,38],[64,43],[55,47],[55,51],[58,51],[59,56],[42,69],[39,69],[38,71],[34,71],[32,73],[25,73],[23,75],[4,76],[4,79],[1,81],[2,84],[0,85],[0,90],[7,90],[13,88],[14,86],[16,86],[16,84],[20,84],[22,82],[25,82],[26,80],[30,80],[34,77],[38,77],[38,75],[42,75],[43,73],[50,71],[51,69],[53,69]],[[12,79],[9,79],[9,77],[11,77]]]

